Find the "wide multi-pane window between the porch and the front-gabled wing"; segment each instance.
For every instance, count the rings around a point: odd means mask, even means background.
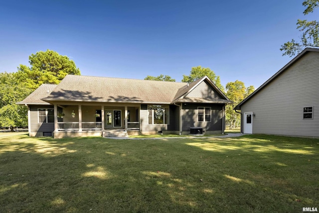
[[[148,124],[168,124],[168,107],[162,105],[148,106]]]

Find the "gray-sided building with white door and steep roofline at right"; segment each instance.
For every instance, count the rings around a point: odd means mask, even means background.
[[[241,132],[319,137],[319,49],[306,48],[235,107]]]

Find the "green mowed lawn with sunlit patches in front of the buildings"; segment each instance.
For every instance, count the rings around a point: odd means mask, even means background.
[[[5,135],[7,134],[7,135]],[[112,140],[0,134],[1,212],[302,212],[319,140]]]

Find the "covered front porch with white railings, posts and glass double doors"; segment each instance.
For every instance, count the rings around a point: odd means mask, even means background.
[[[54,133],[86,135],[86,132],[96,136],[101,135],[104,130],[139,131],[140,120],[138,104],[132,106],[54,104]]]

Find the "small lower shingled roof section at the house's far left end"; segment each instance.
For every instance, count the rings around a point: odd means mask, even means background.
[[[56,86],[57,84],[41,84],[41,86],[34,90],[23,101],[17,102],[17,104],[50,105],[48,102],[42,101],[41,98],[47,97]]]

